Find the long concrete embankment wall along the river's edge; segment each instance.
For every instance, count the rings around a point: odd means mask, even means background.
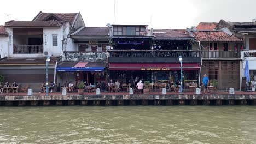
[[[256,95],[24,95],[0,96],[0,106],[256,105]]]

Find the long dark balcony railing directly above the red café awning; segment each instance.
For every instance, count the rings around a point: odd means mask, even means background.
[[[181,50],[110,50],[109,63],[179,63],[179,56],[184,63],[199,63],[200,51]]]

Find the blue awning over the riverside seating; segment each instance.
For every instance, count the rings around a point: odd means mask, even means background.
[[[56,71],[95,71],[102,72],[105,67],[57,67]]]

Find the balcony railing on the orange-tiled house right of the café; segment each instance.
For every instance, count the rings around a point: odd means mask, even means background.
[[[240,58],[236,51],[202,51],[202,58]]]

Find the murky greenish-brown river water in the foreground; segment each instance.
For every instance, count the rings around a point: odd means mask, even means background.
[[[0,107],[0,143],[256,143],[256,107]]]

